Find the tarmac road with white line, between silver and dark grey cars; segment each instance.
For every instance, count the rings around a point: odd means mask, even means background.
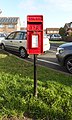
[[[33,62],[33,55],[30,55],[27,60]],[[38,55],[36,63],[39,65],[46,66],[48,68],[60,71],[60,72],[68,73],[68,71],[65,69],[65,67],[60,66],[57,61],[56,48],[55,48],[55,50],[50,49],[43,55]]]

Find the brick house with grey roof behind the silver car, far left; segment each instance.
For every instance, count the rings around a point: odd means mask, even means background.
[[[0,32],[10,33],[20,30],[19,17],[0,17]]]

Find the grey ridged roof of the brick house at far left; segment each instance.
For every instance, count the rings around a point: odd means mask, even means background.
[[[19,17],[0,17],[0,24],[16,24]]]

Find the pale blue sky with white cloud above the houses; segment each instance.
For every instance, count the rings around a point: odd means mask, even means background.
[[[43,15],[43,27],[60,28],[72,22],[72,0],[1,0],[2,17],[20,17],[27,26],[27,15]]]

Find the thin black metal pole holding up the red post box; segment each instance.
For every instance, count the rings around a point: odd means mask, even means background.
[[[37,97],[36,55],[34,54],[34,96]]]

